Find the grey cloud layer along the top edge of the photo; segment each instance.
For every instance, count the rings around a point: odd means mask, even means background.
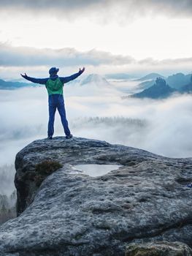
[[[191,17],[192,2],[191,0],[34,0],[34,1],[0,1],[2,10],[15,10],[28,12],[42,12],[50,14],[50,12],[58,18],[79,17],[87,15],[105,16],[104,20],[108,18],[122,18],[126,19],[144,16],[144,15],[168,15],[174,17],[185,18]],[[106,15],[107,14],[107,15]],[[121,16],[120,16],[121,15]]]

